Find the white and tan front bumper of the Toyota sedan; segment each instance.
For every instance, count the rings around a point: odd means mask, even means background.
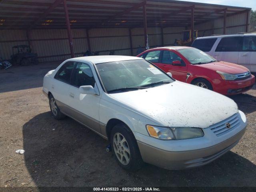
[[[193,168],[208,164],[233,148],[242,138],[246,124],[247,122],[241,122],[239,127],[222,136],[216,136],[210,128],[206,128],[202,138],[161,140],[160,142],[165,142],[162,147],[156,147],[156,144],[152,146],[152,142],[145,143],[146,140],[142,142],[137,139],[137,142],[144,162],[170,170]],[[170,149],[171,147],[173,148]]]

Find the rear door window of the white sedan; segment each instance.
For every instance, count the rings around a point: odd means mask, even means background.
[[[55,78],[62,82],[70,84],[70,77],[71,77],[74,66],[75,66],[75,63],[73,61],[66,62],[58,70]]]

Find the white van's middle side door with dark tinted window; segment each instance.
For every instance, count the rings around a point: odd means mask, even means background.
[[[238,54],[241,49],[241,36],[223,37],[212,56],[219,61],[238,64]]]

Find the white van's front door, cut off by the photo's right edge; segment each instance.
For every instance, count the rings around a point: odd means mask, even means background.
[[[256,72],[256,36],[244,36],[242,50],[239,52],[238,64],[251,72]]]

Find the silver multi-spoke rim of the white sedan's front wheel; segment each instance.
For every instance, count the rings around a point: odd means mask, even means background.
[[[123,165],[127,165],[130,162],[130,148],[128,146],[128,142],[122,134],[114,134],[113,148],[118,160]]]

